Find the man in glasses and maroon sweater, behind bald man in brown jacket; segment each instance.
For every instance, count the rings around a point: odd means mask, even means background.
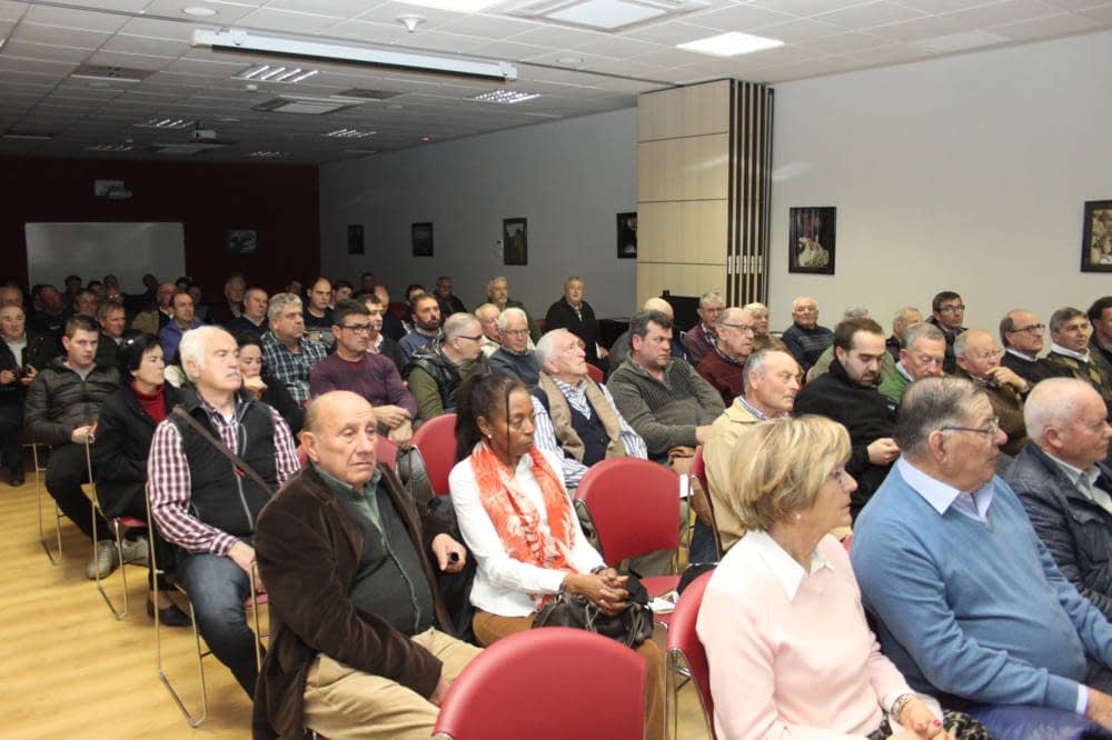
[[[370,342],[370,309],[359,301],[341,300],[332,309],[336,352],[309,371],[312,398],[334,390],[351,391],[375,407],[378,433],[406,448],[413,439],[417,401],[401,382],[390,358],[367,351]]]

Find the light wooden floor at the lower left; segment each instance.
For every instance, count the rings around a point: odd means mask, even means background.
[[[52,503],[43,491],[47,504]],[[52,508],[44,506],[44,511]],[[47,520],[48,532],[52,519]],[[20,488],[0,480],[0,737],[22,740],[250,737],[251,704],[215,659],[206,660],[208,719],[190,729],[155,673],[147,572],[128,569],[130,613],[116,621],[85,577],[90,544],[62,520],[64,554],[51,566],[39,544],[33,474]],[[106,581],[113,599],[119,572]],[[167,673],[197,706],[192,633],[163,628]],[[692,687],[681,700],[679,738],[707,737]]]

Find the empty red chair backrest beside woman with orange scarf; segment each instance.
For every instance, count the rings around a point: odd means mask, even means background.
[[[603,559],[679,547],[679,477],[639,458],[610,458],[590,467],[576,498],[590,513]]]

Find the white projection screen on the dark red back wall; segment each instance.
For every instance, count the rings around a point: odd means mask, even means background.
[[[180,222],[150,223],[28,223],[27,273],[30,284],[62,287],[68,274],[88,282],[107,273],[120,288],[142,293],[142,276],[160,280],[186,274],[186,237]]]

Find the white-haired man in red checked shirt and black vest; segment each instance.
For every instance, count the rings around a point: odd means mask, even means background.
[[[151,516],[162,536],[180,548],[175,578],[189,594],[201,637],[252,696],[258,674],[255,634],[244,610],[255,563],[252,536],[259,510],[298,467],[294,438],[277,411],[241,391],[236,340],[227,331],[192,329],[178,352],[193,383],[183,391],[179,408],[266,486],[171,413],[151,440]]]

